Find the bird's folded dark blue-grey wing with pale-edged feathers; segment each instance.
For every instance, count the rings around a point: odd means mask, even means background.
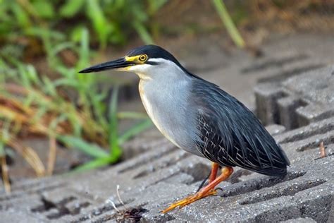
[[[199,88],[194,102],[199,108],[199,152],[223,166],[284,176],[289,161],[254,114],[214,84]]]

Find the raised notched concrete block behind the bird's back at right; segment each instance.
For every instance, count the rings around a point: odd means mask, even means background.
[[[334,115],[334,66],[256,86],[256,113],[264,124],[293,129]]]

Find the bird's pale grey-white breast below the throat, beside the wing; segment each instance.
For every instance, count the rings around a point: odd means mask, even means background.
[[[171,143],[202,156],[194,144],[198,134],[196,122],[191,120],[194,116],[187,105],[189,84],[186,80],[179,80],[179,83],[140,80],[140,97],[156,128]]]

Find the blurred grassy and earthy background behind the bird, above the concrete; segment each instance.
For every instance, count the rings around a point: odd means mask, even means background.
[[[332,38],[333,21],[333,0],[0,0],[6,191],[16,181],[121,162],[132,156],[124,143],[152,127],[135,75],[83,75],[82,68],[159,44],[205,78],[212,69],[238,66],[229,58],[261,59],[266,42]],[[233,87],[240,80],[229,75],[209,80],[241,92],[254,110],[245,85]]]

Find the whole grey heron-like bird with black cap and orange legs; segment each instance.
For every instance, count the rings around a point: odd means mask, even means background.
[[[212,162],[209,183],[163,213],[215,195],[215,187],[233,174],[233,167],[268,176],[287,174],[287,155],[252,111],[218,85],[190,73],[166,49],[144,45],[79,73],[106,70],[136,73],[142,104],[156,128],[176,147]]]

